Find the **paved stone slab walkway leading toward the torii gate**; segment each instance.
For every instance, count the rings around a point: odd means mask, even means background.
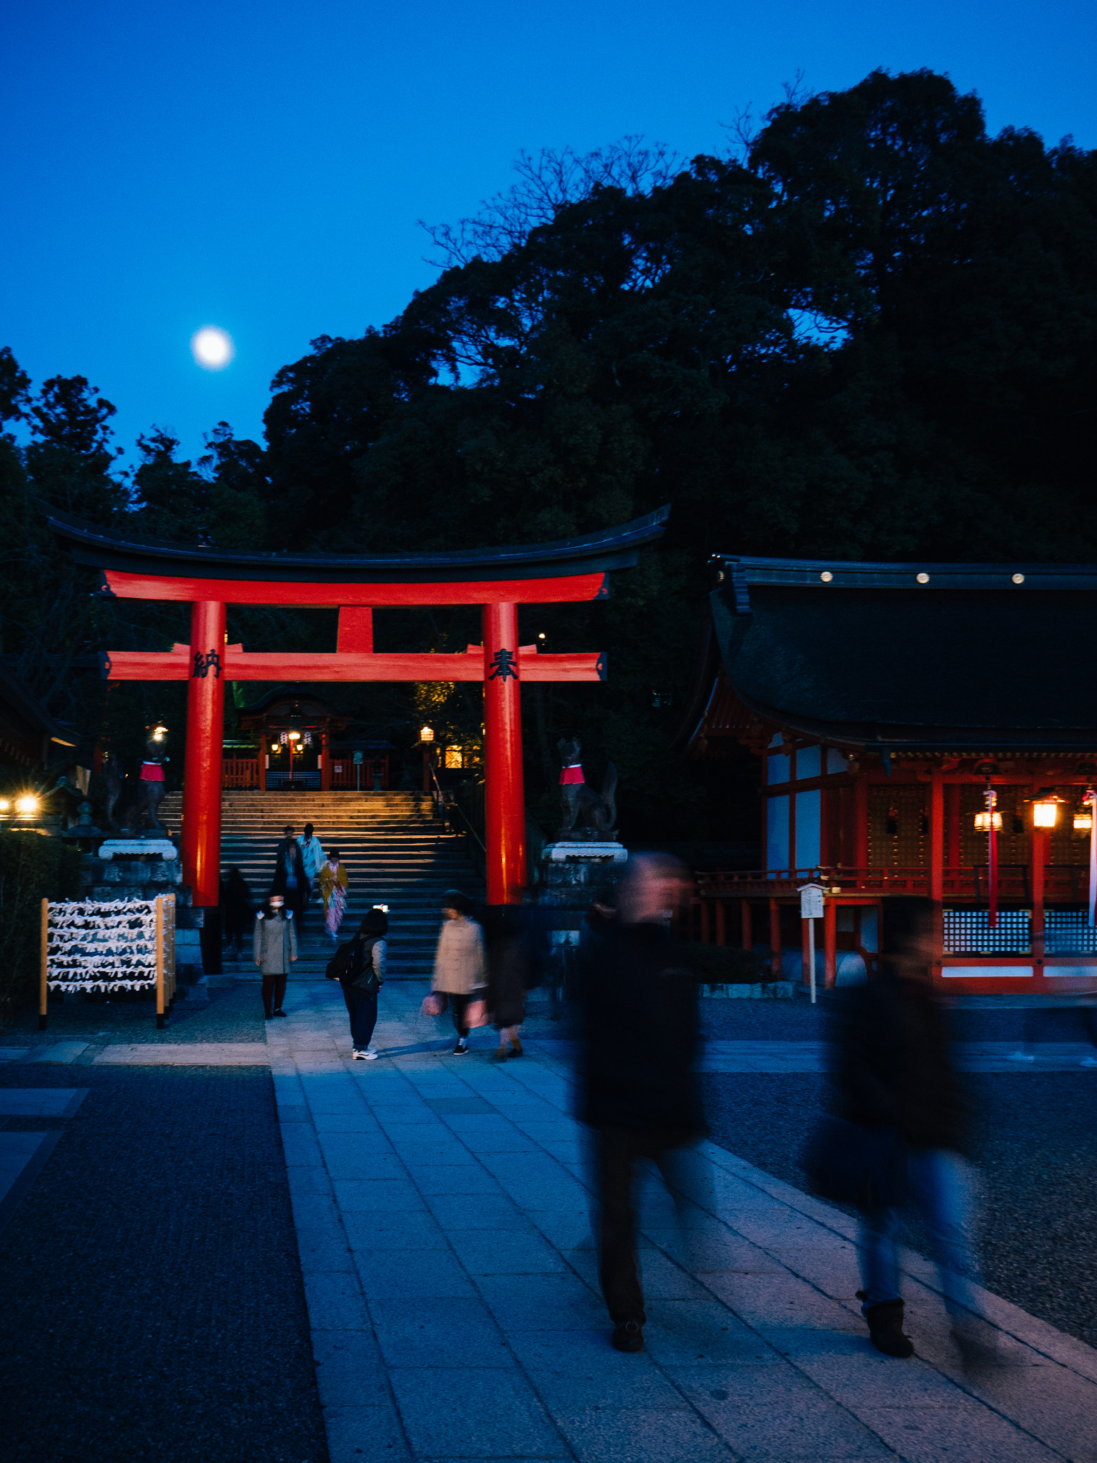
[[[919,1356],[879,1356],[854,1225],[708,1143],[680,1211],[651,1181],[648,1350],[613,1352],[563,1043],[452,1058],[421,993],[385,989],[377,1062],[326,983],[266,1027],[332,1463],[1097,1460],[1097,1352],[983,1293],[1009,1365],[965,1377],[908,1255]]]

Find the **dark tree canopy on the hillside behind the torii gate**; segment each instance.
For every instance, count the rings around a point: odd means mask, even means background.
[[[0,356],[0,411],[35,433],[31,487],[274,550],[531,541],[670,502],[666,541],[608,604],[522,626],[610,652],[607,686],[527,696],[531,789],[578,729],[652,834],[730,816],[664,752],[709,553],[1097,559],[1094,154],[992,138],[946,78],[873,72],[790,97],[737,158],[626,139],[518,173],[430,230],[448,268],[398,319],[278,372],[265,451],[222,424],[192,467],[154,429],[123,490],[110,404],[82,377],[32,396]],[[0,462],[0,490],[16,470]],[[388,612],[377,635],[478,629]],[[472,698],[451,710],[474,736]]]

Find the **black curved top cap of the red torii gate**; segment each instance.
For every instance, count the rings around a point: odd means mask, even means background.
[[[260,579],[281,584],[452,584],[465,579],[544,579],[627,569],[663,534],[670,506],[617,528],[576,538],[503,549],[407,554],[240,553],[158,540],[117,538],[108,528],[42,505],[59,543],[76,563],[189,579]]]

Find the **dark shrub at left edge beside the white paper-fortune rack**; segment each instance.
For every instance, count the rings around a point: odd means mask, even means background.
[[[0,832],[0,1012],[18,1009],[38,986],[42,900],[73,898],[80,851],[31,830]]]

